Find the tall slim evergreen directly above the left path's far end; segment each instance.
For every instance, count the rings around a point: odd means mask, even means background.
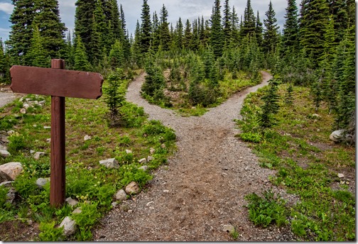
[[[151,13],[148,5],[148,0],[143,0],[141,12],[141,35],[140,35],[140,48],[142,53],[146,53],[151,45]]]

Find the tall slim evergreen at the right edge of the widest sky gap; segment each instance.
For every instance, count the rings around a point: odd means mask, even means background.
[[[211,33],[210,33],[210,45],[214,51],[215,57],[222,56],[222,50],[224,48],[223,31],[221,24],[221,13],[220,13],[220,1],[215,0],[214,7],[212,8],[211,22]]]

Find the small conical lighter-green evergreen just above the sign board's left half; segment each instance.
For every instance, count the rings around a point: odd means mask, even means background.
[[[51,59],[44,48],[44,38],[40,35],[38,26],[33,23],[33,38],[31,38],[30,50],[26,53],[26,62],[35,67],[50,67]]]

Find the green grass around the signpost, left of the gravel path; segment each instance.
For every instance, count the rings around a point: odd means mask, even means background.
[[[104,86],[106,86],[104,82]],[[127,84],[125,84],[127,85]],[[104,94],[105,96],[105,94]],[[18,192],[15,204],[0,202],[0,223],[31,219],[40,223],[40,236],[37,240],[63,240],[55,229],[65,216],[76,219],[77,233],[67,240],[91,240],[91,229],[99,219],[112,209],[112,196],[131,181],[141,189],[152,178],[151,170],[166,164],[168,155],[175,150],[175,133],[159,121],[148,121],[143,109],[125,103],[127,126],[113,128],[107,122],[107,104],[104,96],[98,100],[66,98],[66,198],[80,201],[82,214],[74,216],[73,207],[65,204],[60,209],[50,206],[49,183],[38,189],[38,177],[50,177],[50,97],[45,99],[44,108],[36,108],[31,113],[18,113],[22,103],[15,101],[1,112],[0,131],[16,131],[9,137],[11,157],[0,158],[0,164],[21,162],[23,173],[16,178],[13,186]],[[28,95],[26,97],[33,97]],[[92,139],[85,141],[85,135]],[[166,145],[162,148],[161,145]],[[150,155],[150,148],[156,151],[154,160],[148,162],[149,172],[139,170],[138,160]],[[126,149],[133,153],[126,153]],[[34,160],[30,150],[46,153]],[[116,157],[119,169],[107,169],[99,165],[99,160]],[[1,188],[1,196],[6,189]],[[87,203],[87,201],[89,201]],[[22,216],[22,217],[21,217]],[[1,227],[0,227],[1,228]]]

